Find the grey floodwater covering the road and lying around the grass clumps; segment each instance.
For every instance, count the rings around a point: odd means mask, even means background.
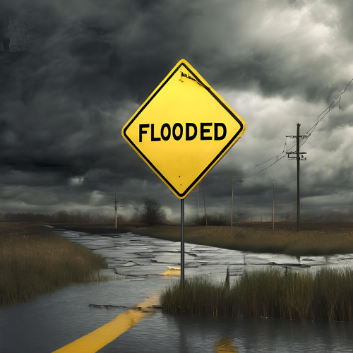
[[[1,353],[53,352],[146,298],[156,300],[162,289],[179,281],[173,268],[179,267],[180,243],[131,233],[56,232],[101,253],[109,265],[103,273],[124,279],[71,285],[30,303],[0,309]],[[229,267],[234,282],[244,271],[261,268],[316,271],[323,266],[352,266],[353,254],[296,258],[185,244],[185,263],[186,276],[204,275],[213,281],[224,281]],[[350,323],[170,315],[156,310],[99,352],[352,352],[352,333]]]

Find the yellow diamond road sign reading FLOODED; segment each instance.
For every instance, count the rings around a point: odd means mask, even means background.
[[[178,198],[186,198],[241,138],[246,122],[181,60],[122,135]]]

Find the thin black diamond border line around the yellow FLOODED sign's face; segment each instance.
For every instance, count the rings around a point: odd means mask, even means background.
[[[222,148],[222,150],[218,153],[218,155],[212,160],[212,162],[210,162],[210,164],[208,164],[207,167],[205,167],[205,169],[203,169],[203,172],[201,172],[201,174],[198,175],[198,177],[189,185],[189,187],[184,191],[184,193],[179,193],[174,186],[172,186],[172,184],[169,183],[169,181],[164,177],[164,175],[155,167],[155,165],[148,159],[148,157],[146,157],[143,152],[140,151],[140,149],[135,145],[135,143],[133,143],[133,141],[128,137],[126,131],[127,129],[131,126],[131,124],[133,123],[133,121],[135,121],[137,119],[137,117],[141,114],[141,112],[143,112],[143,109],[145,109],[145,107],[148,106],[148,104],[150,104],[150,102],[152,101],[152,99],[158,94],[158,92],[160,92],[160,90],[162,90],[162,88],[164,87],[164,85],[170,80],[170,78],[172,78],[172,76],[174,76],[174,74],[179,70],[179,68],[181,68],[181,66],[185,66],[185,68],[193,75],[194,78],[196,78],[196,80],[198,80],[199,83],[201,83],[201,85],[203,85],[203,87],[205,88],[205,90],[208,90],[208,92],[210,93],[210,95],[212,95],[215,100],[217,100],[217,102],[220,103],[220,105],[222,105],[223,108],[225,108],[227,110],[227,112],[237,121],[237,123],[240,125],[239,131],[232,137],[231,140],[229,140],[229,142],[227,143],[227,145],[225,145],[224,148]],[[233,112],[231,112],[229,110],[229,108],[212,92],[212,90],[210,88],[208,88],[205,83],[202,82],[202,80],[200,78],[198,78],[198,76],[196,76],[195,73],[193,73],[193,71],[191,70],[191,68],[189,68],[189,66],[187,66],[185,63],[181,63],[179,66],[177,66],[177,68],[175,68],[175,70],[169,75],[169,77],[167,78],[167,80],[164,81],[164,83],[160,86],[160,88],[158,88],[158,90],[152,95],[152,97],[150,97],[150,99],[145,102],[145,104],[143,104],[143,107],[141,107],[139,109],[139,111],[137,112],[137,114],[133,117],[133,119],[131,119],[131,121],[125,126],[123,133],[125,138],[131,143],[131,145],[133,145],[133,147],[138,151],[138,153],[143,157],[143,159],[148,162],[148,164],[150,164],[150,167],[152,167],[152,169],[164,180],[164,182],[174,191],[174,193],[176,193],[180,198],[184,198],[184,196],[186,196],[186,194],[189,192],[189,190],[193,189],[193,187],[196,186],[196,184],[198,183],[198,181],[203,177],[203,175],[205,173],[208,172],[209,169],[211,169],[213,167],[213,164],[215,164],[215,162],[217,161],[217,159],[222,155],[223,152],[225,152],[225,150],[227,150],[227,148],[229,147],[229,145],[232,145],[233,141],[237,138],[237,136],[239,135],[239,133],[241,133],[241,131],[243,130],[243,123],[238,119],[238,117],[233,114]]]

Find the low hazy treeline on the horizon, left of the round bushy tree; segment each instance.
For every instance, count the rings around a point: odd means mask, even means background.
[[[6,222],[47,222],[47,223],[114,223],[114,217],[103,214],[92,215],[90,212],[79,210],[68,212],[61,210],[52,215],[44,213],[5,213],[1,217]],[[124,216],[118,215],[119,222],[124,222]]]

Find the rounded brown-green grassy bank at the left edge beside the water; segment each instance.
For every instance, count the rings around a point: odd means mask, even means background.
[[[47,227],[0,222],[0,305],[30,301],[71,283],[105,280],[102,256]]]

